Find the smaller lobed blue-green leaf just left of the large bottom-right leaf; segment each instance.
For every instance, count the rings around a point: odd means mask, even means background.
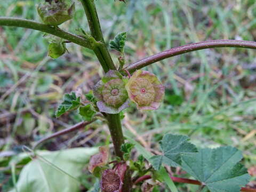
[[[189,137],[185,135],[164,135],[161,141],[163,155],[155,155],[149,159],[154,169],[159,170],[162,163],[169,166],[179,166],[181,155],[197,152],[196,147],[188,142]]]

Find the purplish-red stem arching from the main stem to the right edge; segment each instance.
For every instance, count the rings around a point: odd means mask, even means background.
[[[215,40],[215,41],[205,41],[200,43],[193,43],[188,45],[183,45],[179,47],[174,47],[170,50],[163,51],[154,55],[151,55],[147,58],[141,59],[132,63],[131,65],[125,67],[124,69],[128,70],[130,73],[137,69],[146,67],[157,61],[161,61],[166,58],[173,57],[175,55],[180,55],[183,53],[188,53],[197,50],[215,48],[215,47],[241,47],[247,49],[256,49],[256,42],[250,41],[238,41],[238,40]]]

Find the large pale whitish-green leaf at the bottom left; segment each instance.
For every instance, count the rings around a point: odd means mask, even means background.
[[[39,156],[21,170],[17,189],[19,192],[78,192],[83,167],[97,151],[95,147],[37,151]]]

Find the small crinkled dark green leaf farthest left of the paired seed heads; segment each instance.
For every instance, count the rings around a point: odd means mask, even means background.
[[[65,114],[67,111],[77,109],[81,105],[80,97],[76,97],[74,92],[70,94],[65,94],[63,98],[63,102],[59,105],[57,111],[55,112],[55,116],[59,117]]]

